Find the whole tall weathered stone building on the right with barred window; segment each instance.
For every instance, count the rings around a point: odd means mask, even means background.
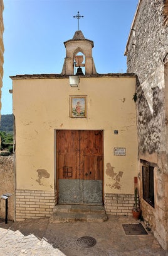
[[[140,0],[125,55],[138,76],[140,202],[145,223],[168,248],[168,1]]]

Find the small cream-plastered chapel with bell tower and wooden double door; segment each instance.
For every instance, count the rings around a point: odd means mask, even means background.
[[[50,216],[56,204],[104,205],[108,214],[130,215],[136,76],[98,74],[93,41],[81,31],[65,47],[61,74],[11,76],[15,219]]]

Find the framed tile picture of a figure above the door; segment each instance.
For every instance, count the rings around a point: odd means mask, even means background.
[[[70,96],[70,117],[87,117],[87,96]]]

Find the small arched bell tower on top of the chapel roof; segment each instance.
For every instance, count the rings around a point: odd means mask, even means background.
[[[78,67],[78,75],[97,74],[92,57],[93,41],[86,39],[81,30],[77,30],[73,38],[64,42],[64,45],[66,57],[61,72],[62,75],[74,75],[75,67]],[[78,55],[79,53],[80,55]]]

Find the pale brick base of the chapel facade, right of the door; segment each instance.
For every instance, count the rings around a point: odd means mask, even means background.
[[[132,194],[105,194],[105,211],[111,215],[132,216],[134,195]]]

